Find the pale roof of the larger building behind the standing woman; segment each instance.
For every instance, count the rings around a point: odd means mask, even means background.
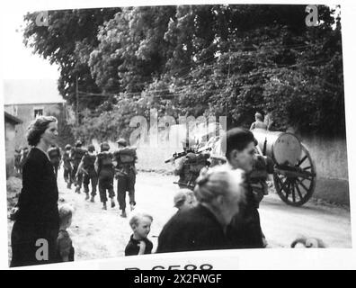
[[[4,104],[65,103],[56,79],[4,79]]]

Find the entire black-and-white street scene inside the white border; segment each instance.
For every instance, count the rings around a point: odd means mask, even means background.
[[[343,4],[5,20],[8,267],[352,251]]]

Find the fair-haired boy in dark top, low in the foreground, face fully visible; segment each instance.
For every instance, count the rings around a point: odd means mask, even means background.
[[[129,220],[133,234],[125,248],[125,256],[151,254],[153,244],[147,239],[153,217],[146,213],[136,213]]]

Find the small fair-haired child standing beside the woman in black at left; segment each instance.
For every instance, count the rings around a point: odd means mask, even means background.
[[[64,204],[59,208],[59,232],[57,238],[58,262],[74,261],[74,247],[67,229],[72,224],[73,208]]]

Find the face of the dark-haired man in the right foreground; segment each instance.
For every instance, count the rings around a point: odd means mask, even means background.
[[[251,172],[254,163],[254,142],[250,142],[243,150],[234,149],[230,153],[229,163],[234,168],[243,169],[246,173]]]

